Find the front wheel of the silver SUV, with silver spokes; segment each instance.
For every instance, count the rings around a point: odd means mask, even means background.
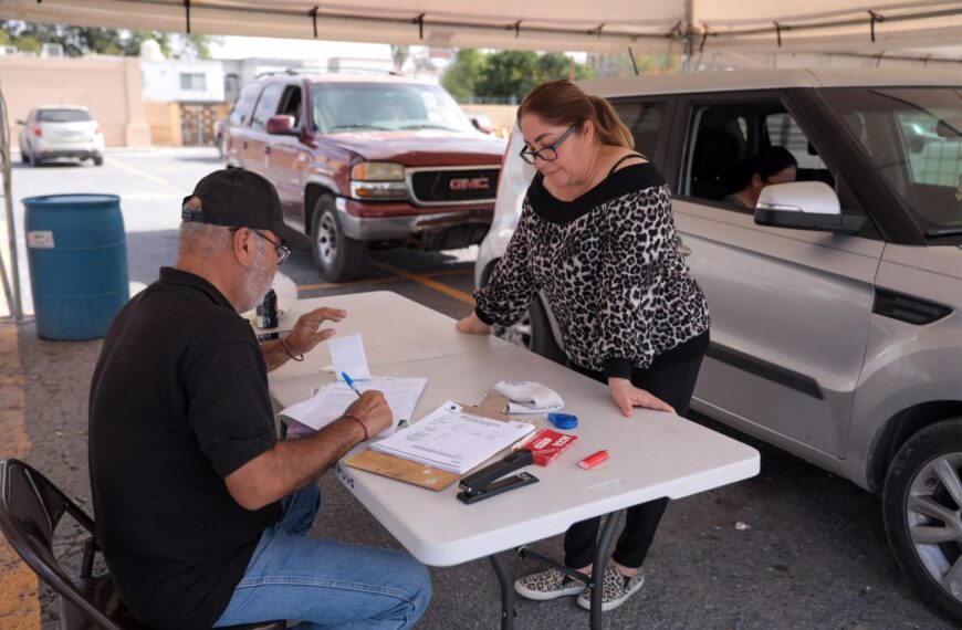
[[[962,418],[902,444],[886,477],[885,521],[919,596],[962,620]]]

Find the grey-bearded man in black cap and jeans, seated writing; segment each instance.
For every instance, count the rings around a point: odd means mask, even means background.
[[[177,264],[114,319],[91,386],[97,538],[121,597],[159,629],[411,627],[431,597],[424,565],[305,536],[317,475],[389,426],[384,396],[364,392],[309,438],[275,439],[266,370],[346,313],[320,308],[263,347],[238,315],[270,286],[284,243],[310,240],[284,225],[274,187],[244,170],[201,179],[182,218]]]

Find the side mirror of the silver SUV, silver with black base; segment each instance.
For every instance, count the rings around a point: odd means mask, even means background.
[[[838,196],[823,181],[790,181],[766,186],[755,204],[755,223],[793,230],[854,234],[866,218],[844,214]]]

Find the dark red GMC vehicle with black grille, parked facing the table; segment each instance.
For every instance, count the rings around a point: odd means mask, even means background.
[[[395,75],[262,76],[223,129],[228,168],[274,182],[330,281],[364,271],[370,246],[480,243],[504,148],[442,87]]]

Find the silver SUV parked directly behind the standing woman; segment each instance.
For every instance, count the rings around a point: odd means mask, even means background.
[[[692,408],[883,497],[921,597],[962,620],[962,78],[790,70],[599,80],[675,191],[678,248],[712,345]],[[534,174],[515,129],[483,285]],[[723,201],[739,165],[788,149],[797,180]],[[543,300],[501,330],[551,358]]]

